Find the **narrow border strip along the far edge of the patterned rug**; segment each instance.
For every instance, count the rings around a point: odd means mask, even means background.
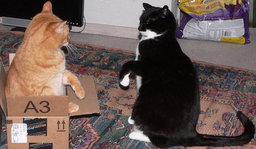
[[[13,33],[13,34],[18,34],[18,35],[24,35],[24,32],[20,32],[20,31],[0,30],[0,32],[1,33]],[[84,45],[84,46],[91,46],[91,47],[95,47],[95,48],[99,48],[99,49],[113,50],[113,51],[118,51],[118,52],[126,52],[126,53],[130,53],[130,54],[135,54],[136,53],[135,51],[118,49],[118,48],[114,48],[114,47],[106,47],[106,46],[87,44],[87,43],[75,42],[75,41],[70,41],[70,42],[75,43],[75,44],[81,44],[81,45]],[[205,62],[205,61],[197,61],[197,60],[191,60],[191,61],[195,62],[195,63],[199,63],[199,64],[212,65],[212,66],[219,67],[219,68],[233,69],[233,70],[238,70],[238,71],[247,71],[247,72],[253,73],[253,75],[256,75],[256,71],[254,71],[254,70],[238,68],[238,67],[233,67],[233,66],[227,66],[227,65],[219,65],[219,64],[209,63],[209,62]]]

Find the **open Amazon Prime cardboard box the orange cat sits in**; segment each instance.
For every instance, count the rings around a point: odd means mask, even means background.
[[[78,79],[86,92],[82,100],[69,86],[67,96],[6,97],[6,72],[0,58],[0,104],[6,116],[8,149],[68,149],[70,116],[99,113],[93,76]],[[69,102],[78,104],[79,111],[68,113]]]

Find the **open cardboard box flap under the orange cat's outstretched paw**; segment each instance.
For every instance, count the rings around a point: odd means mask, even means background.
[[[79,110],[70,113],[70,116],[99,113],[98,97],[93,76],[79,77],[78,79],[85,90],[85,98],[78,99],[72,88],[70,86],[67,88],[69,102],[79,105]]]

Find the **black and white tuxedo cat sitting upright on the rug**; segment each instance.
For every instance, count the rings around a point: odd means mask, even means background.
[[[160,148],[171,146],[239,146],[254,136],[254,124],[240,111],[245,131],[237,137],[199,134],[200,114],[197,72],[175,38],[176,20],[168,6],[143,3],[140,17],[142,35],[135,61],[120,71],[120,86],[128,87],[129,75],[136,76],[137,99],[128,122],[134,124],[131,139],[152,142]]]

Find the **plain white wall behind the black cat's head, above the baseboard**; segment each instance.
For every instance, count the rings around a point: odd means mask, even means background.
[[[137,28],[143,2],[171,10],[171,0],[85,0],[86,23]]]

